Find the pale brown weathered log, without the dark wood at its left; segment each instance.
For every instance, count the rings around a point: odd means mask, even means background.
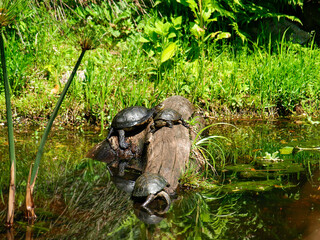
[[[181,96],[170,97],[163,104],[164,108],[176,110],[186,120],[189,120],[195,112],[194,106]],[[166,189],[169,194],[175,192],[179,178],[184,173],[190,159],[189,131],[190,129],[178,124],[172,128],[162,127],[149,138],[144,171],[162,175],[170,184],[170,187]]]

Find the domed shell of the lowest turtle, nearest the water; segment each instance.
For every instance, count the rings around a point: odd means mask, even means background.
[[[132,195],[134,197],[147,197],[149,194],[157,194],[168,186],[164,177],[155,173],[143,173],[137,178]]]

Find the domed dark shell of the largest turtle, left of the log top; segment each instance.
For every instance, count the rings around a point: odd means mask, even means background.
[[[142,125],[152,117],[154,111],[154,109],[148,109],[142,106],[125,108],[118,112],[113,118],[111,127],[115,129],[126,129]]]

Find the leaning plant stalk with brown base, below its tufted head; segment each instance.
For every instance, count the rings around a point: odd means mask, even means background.
[[[82,52],[78,58],[78,61],[68,79],[68,82],[66,83],[61,95],[60,95],[60,98],[53,110],[53,113],[48,121],[48,124],[46,126],[46,129],[44,130],[44,133],[43,133],[43,136],[41,138],[41,142],[40,142],[40,146],[39,146],[39,149],[38,149],[38,152],[37,152],[37,156],[36,156],[36,159],[35,159],[35,163],[34,163],[34,166],[32,168],[32,173],[31,173],[31,178],[30,178],[30,182],[29,182],[29,189],[27,188],[27,192],[26,192],[26,199],[33,199],[32,197],[32,194],[33,194],[33,190],[34,190],[34,185],[35,185],[35,181],[36,181],[36,178],[37,178],[37,173],[38,173],[38,169],[39,169],[39,165],[40,165],[40,160],[42,158],[42,155],[43,155],[43,151],[44,151],[44,146],[45,146],[45,143],[47,141],[47,138],[48,138],[48,135],[50,133],[50,130],[51,130],[51,127],[52,127],[52,124],[53,124],[53,121],[54,119],[56,118],[57,114],[58,114],[58,111],[59,111],[59,108],[62,104],[62,101],[71,85],[71,82],[80,66],[80,63],[82,61],[82,58],[85,54],[87,49],[82,49]],[[34,214],[34,204],[33,204],[33,201],[29,201],[26,202],[26,211],[27,211],[27,216],[29,219],[35,219],[36,216]]]

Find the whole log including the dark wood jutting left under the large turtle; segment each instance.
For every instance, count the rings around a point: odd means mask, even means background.
[[[195,107],[181,96],[169,97],[163,104],[164,108],[179,112],[185,120],[195,114]],[[166,191],[174,194],[179,178],[189,165],[191,145],[196,136],[194,129],[203,128],[204,121],[200,118],[197,126],[190,129],[182,124],[175,124],[172,128],[162,127],[154,133],[151,133],[151,124],[152,122],[142,126],[126,137],[126,141],[130,143],[128,149],[121,149],[118,137],[112,136],[94,146],[86,157],[106,162],[113,168],[117,168],[121,161],[128,161],[128,170],[158,173],[170,184]]]

